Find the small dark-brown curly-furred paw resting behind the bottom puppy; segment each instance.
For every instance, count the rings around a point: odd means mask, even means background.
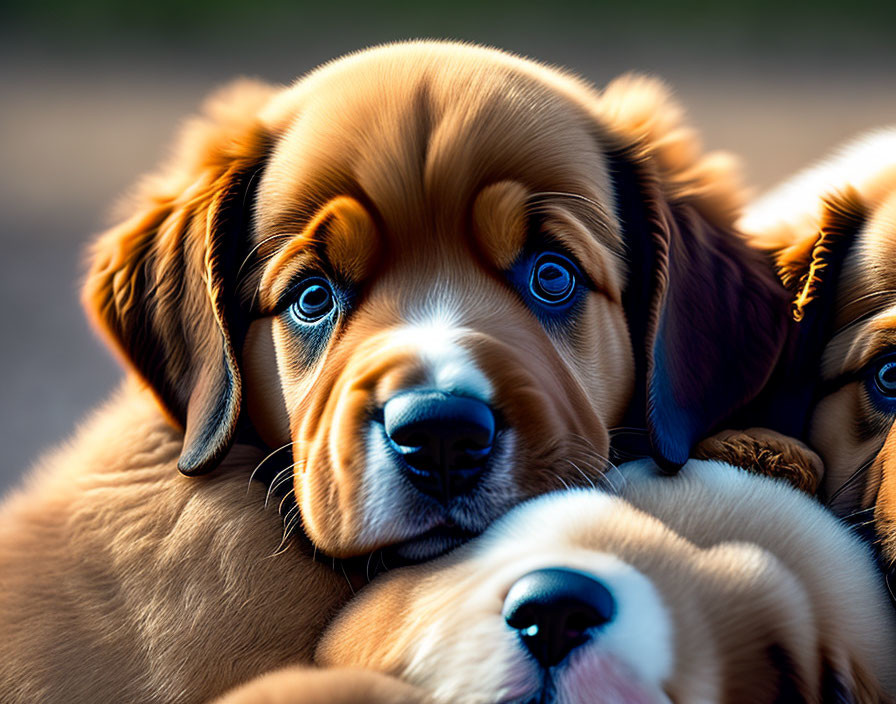
[[[808,494],[815,493],[824,471],[821,458],[805,444],[766,428],[723,430],[701,441],[694,457],[786,479]]]

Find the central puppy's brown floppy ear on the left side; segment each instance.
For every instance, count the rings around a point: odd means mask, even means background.
[[[248,241],[247,188],[269,135],[274,88],[240,81],[214,96],[173,159],[138,189],[130,217],[90,252],[83,301],[112,346],[183,427],[178,467],[213,469],[240,410],[233,276]]]

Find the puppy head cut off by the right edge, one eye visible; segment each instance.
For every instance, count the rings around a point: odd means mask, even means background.
[[[815,400],[807,439],[833,509],[873,525],[896,560],[896,131],[881,131],[761,199],[743,221],[775,252],[802,320]]]

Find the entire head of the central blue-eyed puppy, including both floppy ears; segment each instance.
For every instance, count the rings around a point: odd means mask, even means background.
[[[86,300],[184,425],[181,470],[244,409],[324,551],[444,551],[593,481],[621,424],[678,466],[765,381],[783,298],[656,83],[411,43],[247,90],[104,236]]]

